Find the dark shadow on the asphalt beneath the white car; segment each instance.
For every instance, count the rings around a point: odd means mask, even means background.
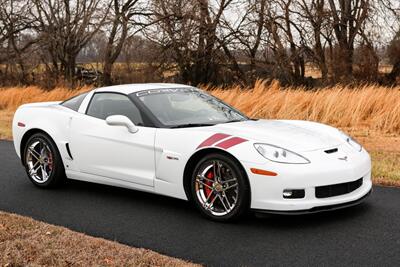
[[[100,198],[110,205],[119,207],[127,205],[133,210],[146,210],[143,216],[153,217],[161,210],[163,214],[170,217],[163,217],[165,220],[184,217],[186,223],[201,221],[205,224],[215,224],[215,222],[203,218],[192,203],[167,196],[74,180],[68,180],[66,186],[59,190],[68,191],[69,194],[73,195]],[[372,204],[367,199],[366,202],[357,206],[304,215],[276,215],[249,212],[247,216],[239,221],[223,223],[223,225],[247,225],[282,230],[321,227],[347,220],[357,220],[367,214],[372,208]]]

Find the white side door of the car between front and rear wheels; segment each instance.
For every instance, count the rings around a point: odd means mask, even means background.
[[[128,117],[139,129],[110,126],[111,115]],[[80,172],[154,186],[155,128],[143,127],[141,113],[123,94],[95,93],[86,115],[71,122],[70,149]]]

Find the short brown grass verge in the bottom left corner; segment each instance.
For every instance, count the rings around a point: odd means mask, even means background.
[[[0,212],[0,266],[198,266]]]

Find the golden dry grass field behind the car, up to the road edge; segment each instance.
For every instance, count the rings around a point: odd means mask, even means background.
[[[250,117],[311,120],[341,128],[371,152],[375,183],[400,185],[399,87],[335,86],[311,91],[258,81],[253,88],[203,88]],[[0,89],[0,138],[11,138],[12,115],[19,105],[64,100],[87,90],[90,88]]]

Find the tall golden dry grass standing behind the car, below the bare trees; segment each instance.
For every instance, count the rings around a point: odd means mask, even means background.
[[[63,100],[89,89],[0,89],[0,109],[14,110],[23,103]],[[239,86],[225,89],[205,86],[204,89],[250,117],[312,120],[342,128],[400,134],[400,88],[365,85],[355,89],[335,86],[310,91],[258,81],[246,89]]]

